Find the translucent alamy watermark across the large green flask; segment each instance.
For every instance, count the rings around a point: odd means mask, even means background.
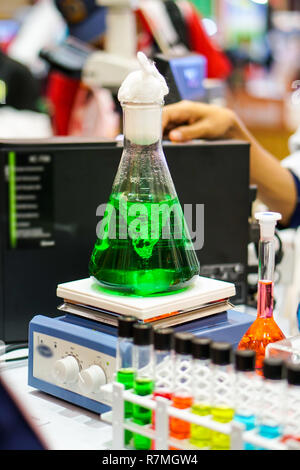
[[[187,249],[201,250],[204,245],[204,204],[131,203],[120,199],[118,206],[100,204],[101,217],[96,227],[100,240],[126,240],[155,243],[163,240],[186,240]]]

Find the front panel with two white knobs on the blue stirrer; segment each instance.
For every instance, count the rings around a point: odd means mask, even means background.
[[[29,385],[101,413],[101,387],[115,372],[116,329],[66,318],[38,315],[31,321]]]

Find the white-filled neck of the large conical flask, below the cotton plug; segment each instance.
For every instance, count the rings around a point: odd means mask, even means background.
[[[124,145],[161,145],[162,106],[123,104]]]

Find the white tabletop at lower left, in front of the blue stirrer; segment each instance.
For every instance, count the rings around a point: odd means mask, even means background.
[[[112,428],[100,416],[28,385],[27,360],[4,366],[2,377],[14,391],[50,450],[111,448]]]

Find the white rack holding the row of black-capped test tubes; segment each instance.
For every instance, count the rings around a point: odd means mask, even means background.
[[[266,450],[299,450],[299,445],[294,441],[280,442],[279,439],[267,439],[259,436],[255,430],[245,431],[243,424],[232,420],[229,423],[219,423],[210,416],[198,416],[189,410],[174,408],[169,400],[156,397],[155,400],[149,396],[139,396],[125,390],[124,385],[118,382],[107,384],[101,389],[105,396],[106,404],[112,410],[101,415],[101,419],[112,425],[112,449],[125,450],[124,430],[138,433],[142,436],[155,440],[156,450],[168,450],[174,447],[180,450],[208,450],[193,446],[188,440],[177,440],[170,438],[169,419],[171,417],[181,419],[199,426],[204,426],[222,434],[230,435],[231,450],[243,450],[246,443],[256,448]],[[155,429],[151,425],[140,426],[130,419],[124,419],[124,402],[131,402],[151,410],[155,410]]]

